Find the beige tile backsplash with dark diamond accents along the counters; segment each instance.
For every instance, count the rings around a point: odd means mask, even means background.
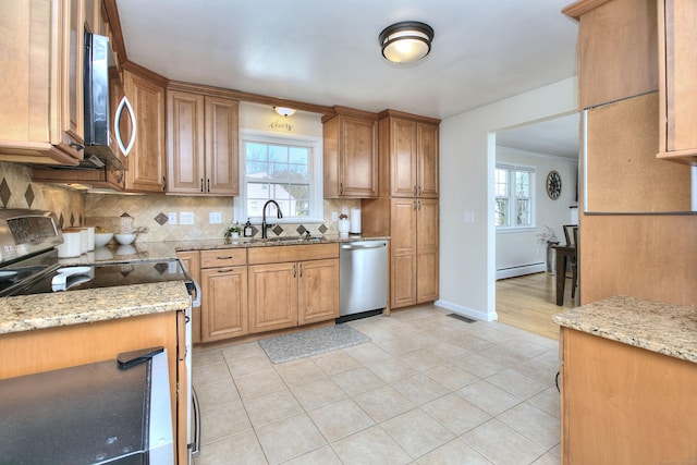
[[[32,169],[19,163],[0,162],[0,204],[2,208],[50,210],[61,227],[101,225],[120,231],[122,217],[133,218],[134,228],[147,232],[137,242],[215,240],[234,220],[231,197],[194,197],[168,195],[85,194],[69,187],[32,181]],[[311,224],[278,224],[270,235],[293,236],[309,231],[311,235],[338,234],[332,211],[342,207],[359,208],[360,200],[326,199],[325,221]],[[176,213],[178,224],[169,224],[169,213]],[[194,224],[180,224],[181,213],[193,215]],[[210,224],[209,213],[220,212],[221,223]],[[259,225],[255,225],[259,234]]]

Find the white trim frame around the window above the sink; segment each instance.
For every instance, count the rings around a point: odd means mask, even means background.
[[[325,222],[325,208],[323,208],[323,167],[322,167],[322,138],[319,136],[310,136],[304,134],[279,134],[269,131],[259,131],[250,129],[240,129],[240,196],[234,197],[233,200],[233,217],[235,221],[241,223],[249,221],[255,224],[261,223],[261,217],[248,217],[247,215],[247,185],[246,185],[246,155],[244,151],[245,142],[260,142],[262,144],[281,144],[281,145],[303,145],[311,147],[313,161],[309,166],[311,171],[310,181],[310,213],[308,217],[288,217],[285,212],[283,218],[278,219],[273,215],[273,223],[284,224],[313,224]]]

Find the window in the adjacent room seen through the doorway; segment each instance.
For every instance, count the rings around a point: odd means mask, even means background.
[[[533,227],[535,169],[497,163],[493,184],[497,228]]]

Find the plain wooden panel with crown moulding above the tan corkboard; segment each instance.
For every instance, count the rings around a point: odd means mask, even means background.
[[[582,0],[564,9],[579,21],[579,110],[658,88],[656,4],[657,0]]]

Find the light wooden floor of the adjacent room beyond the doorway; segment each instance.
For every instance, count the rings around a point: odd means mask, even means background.
[[[571,280],[566,280],[564,305],[555,304],[555,276],[548,272],[526,274],[497,281],[497,314],[499,321],[535,334],[559,339],[559,326],[552,315],[573,308],[576,298],[571,298]],[[574,302],[576,301],[576,302]]]

